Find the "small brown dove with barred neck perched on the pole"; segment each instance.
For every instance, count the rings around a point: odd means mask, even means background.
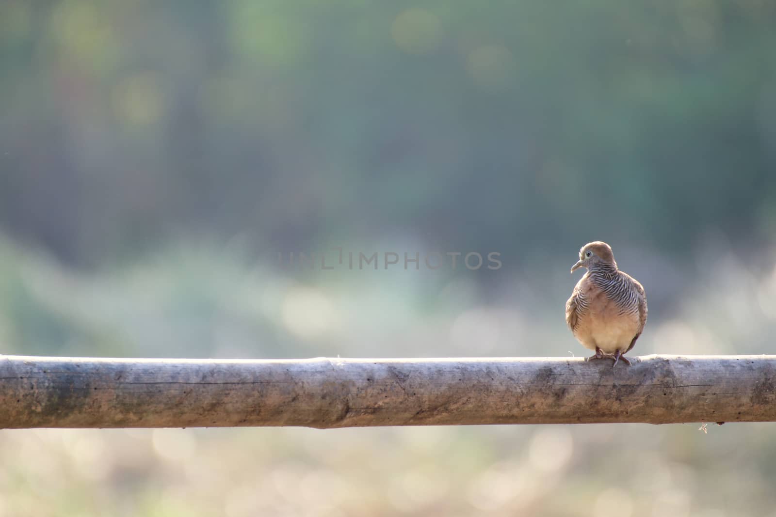
[[[646,295],[639,281],[619,271],[607,243],[597,240],[580,250],[573,273],[586,267],[566,302],[566,324],[574,337],[595,355],[617,361],[633,348],[646,323]]]

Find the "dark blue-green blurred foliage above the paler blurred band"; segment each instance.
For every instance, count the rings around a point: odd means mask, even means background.
[[[180,233],[774,243],[774,23],[759,0],[8,0],[0,222],[92,265]]]

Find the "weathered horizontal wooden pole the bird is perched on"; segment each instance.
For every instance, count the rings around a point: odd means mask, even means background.
[[[0,428],[776,421],[776,356],[0,356]]]

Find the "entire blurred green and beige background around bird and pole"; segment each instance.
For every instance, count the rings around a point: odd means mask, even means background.
[[[117,357],[770,353],[776,5],[0,4],[0,346]],[[385,271],[277,253],[501,253]],[[772,424],[0,433],[0,515],[776,516]]]

